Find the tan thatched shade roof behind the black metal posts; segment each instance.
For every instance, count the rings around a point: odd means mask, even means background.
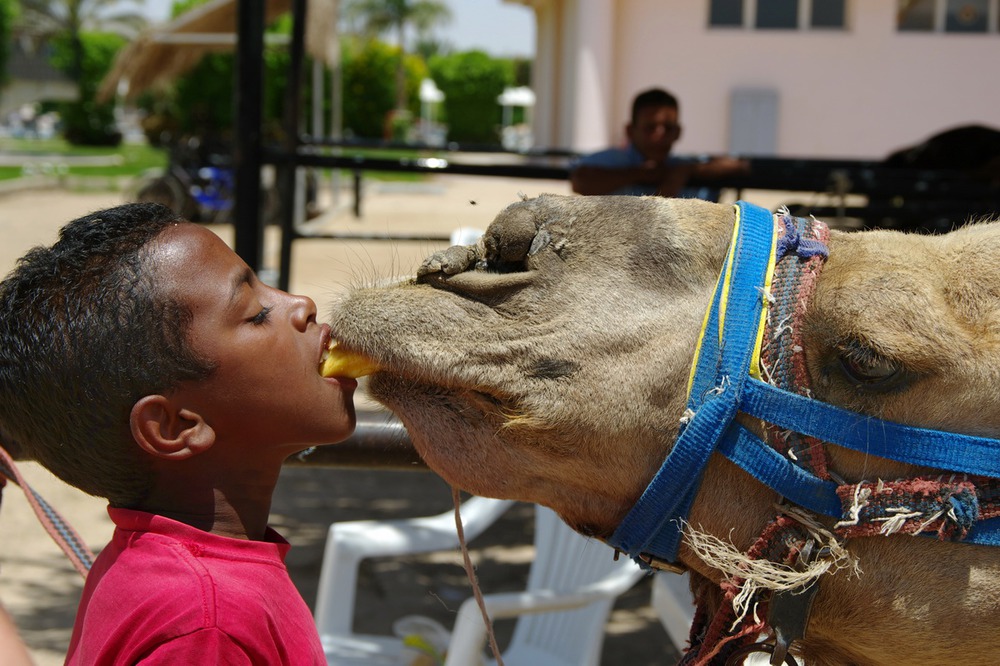
[[[101,81],[98,99],[111,99],[119,91],[126,98],[135,97],[170,83],[197,65],[207,53],[233,50],[237,1],[210,0],[166,25],[144,31],[118,53]],[[263,1],[265,20],[269,23],[292,8],[291,0]],[[338,0],[307,2],[306,51],[332,66],[338,56]]]

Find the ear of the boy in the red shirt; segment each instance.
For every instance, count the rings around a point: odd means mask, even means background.
[[[158,458],[184,460],[215,443],[215,430],[200,414],[162,395],[147,395],[132,405],[129,425],[139,447]]]

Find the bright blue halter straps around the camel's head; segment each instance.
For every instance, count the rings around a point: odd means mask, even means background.
[[[608,540],[642,566],[650,560],[676,560],[683,522],[713,451],[788,501],[815,513],[845,517],[836,483],[814,476],[768,446],[736,422],[738,412],[873,456],[1000,478],[1000,440],[882,421],[751,376],[760,352],[776,243],[772,214],[738,202],[733,239],[692,364],[679,435],[659,472]],[[964,541],[1000,545],[1000,518],[976,523]]]

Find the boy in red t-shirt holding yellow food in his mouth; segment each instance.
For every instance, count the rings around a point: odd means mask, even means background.
[[[156,204],[75,220],[0,283],[0,424],[109,502],[68,664],[325,664],[267,526],[282,462],[354,429],[316,305]]]

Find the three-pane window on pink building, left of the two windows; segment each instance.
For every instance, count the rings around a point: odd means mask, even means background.
[[[845,26],[845,0],[710,0],[713,28],[835,29]]]

